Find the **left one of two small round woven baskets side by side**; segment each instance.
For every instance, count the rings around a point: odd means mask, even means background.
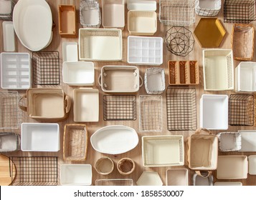
[[[114,169],[114,162],[107,156],[104,156],[96,161],[95,169],[99,174],[108,175]]]

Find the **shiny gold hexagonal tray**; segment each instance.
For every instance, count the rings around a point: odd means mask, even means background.
[[[217,48],[222,43],[226,31],[217,18],[202,18],[194,29],[194,35],[202,48]]]

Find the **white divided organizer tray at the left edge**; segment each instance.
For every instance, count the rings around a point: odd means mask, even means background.
[[[29,89],[31,60],[28,53],[1,53],[1,88]]]

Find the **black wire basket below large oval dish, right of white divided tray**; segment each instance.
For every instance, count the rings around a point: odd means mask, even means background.
[[[35,85],[60,84],[60,59],[58,51],[33,52],[33,76]]]

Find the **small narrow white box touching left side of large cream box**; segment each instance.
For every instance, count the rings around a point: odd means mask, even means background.
[[[76,41],[62,42],[62,61],[78,61],[78,44]]]

